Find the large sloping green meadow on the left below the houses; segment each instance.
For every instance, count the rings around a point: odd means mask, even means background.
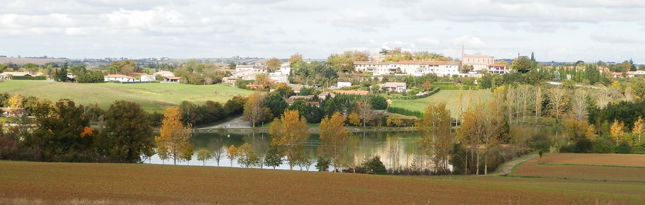
[[[81,104],[96,103],[103,108],[108,108],[115,100],[129,100],[138,102],[149,111],[161,111],[183,100],[226,102],[235,95],[252,93],[223,84],[196,86],[181,83],[82,84],[51,81],[4,81],[0,82],[0,92],[48,100],[69,98]]]

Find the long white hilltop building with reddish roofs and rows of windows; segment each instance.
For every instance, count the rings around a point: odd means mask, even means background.
[[[425,74],[436,74],[437,76],[459,75],[459,62],[454,61],[398,61],[398,62],[376,62],[376,61],[355,61],[356,71],[371,72],[374,76],[389,74],[407,74],[423,76]]]

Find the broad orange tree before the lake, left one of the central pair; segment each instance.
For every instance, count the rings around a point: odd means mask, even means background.
[[[304,142],[309,137],[305,117],[301,117],[297,110],[286,110],[279,119],[276,118],[271,123],[269,134],[273,136],[271,146],[276,146],[284,153],[289,169],[293,170],[293,165],[304,148]]]

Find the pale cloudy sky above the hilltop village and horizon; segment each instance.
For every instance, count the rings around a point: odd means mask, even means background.
[[[8,57],[322,59],[401,47],[460,58],[645,63],[641,0],[0,0]]]

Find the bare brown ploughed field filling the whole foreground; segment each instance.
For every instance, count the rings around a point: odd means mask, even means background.
[[[644,201],[645,186],[629,182],[0,161],[0,204],[642,204]]]

